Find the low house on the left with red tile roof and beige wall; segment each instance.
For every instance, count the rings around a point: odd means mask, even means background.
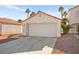
[[[22,25],[8,18],[0,18],[0,34],[22,33]]]

